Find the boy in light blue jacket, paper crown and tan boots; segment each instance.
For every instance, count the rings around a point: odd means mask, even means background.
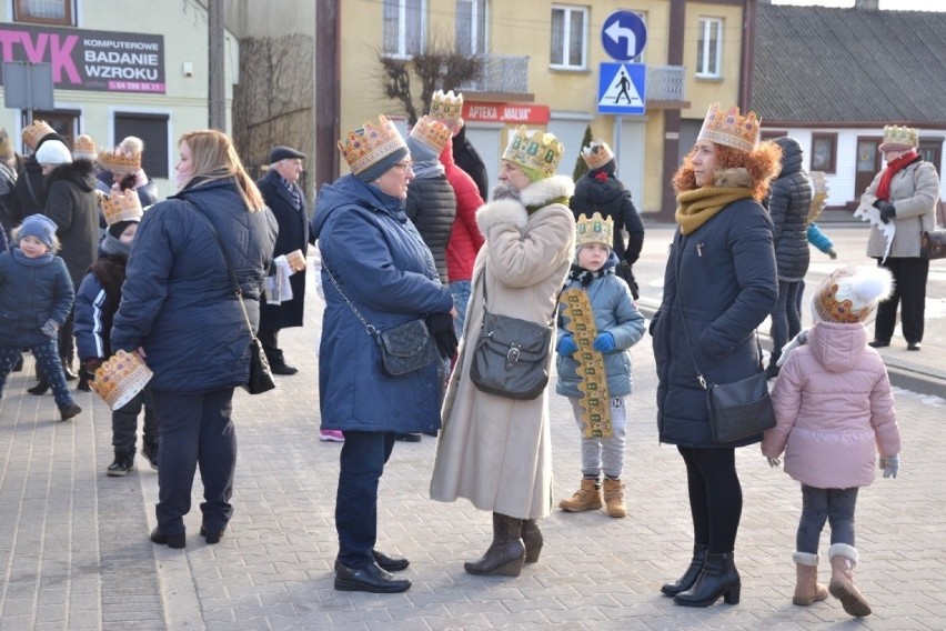
[[[628,349],[644,335],[644,317],[634,304],[627,283],[615,276],[618,259],[611,249],[614,220],[605,220],[598,213],[594,213],[591,219],[582,214],[575,228],[575,263],[565,281],[563,302],[570,303],[570,291],[586,293],[597,334],[591,349],[580,350],[572,311],[560,311],[556,344],[558,382],[555,391],[571,401],[583,438],[581,488],[571,499],[558,502],[558,508],[570,512],[600,509],[603,494],[607,514],[621,518],[627,514],[621,474],[624,470],[627,427],[626,399],[631,393]],[[576,359],[577,355],[578,359],[587,360],[596,353],[601,353],[604,367],[602,380],[607,382],[608,398],[604,402],[606,409],[603,415],[608,418],[602,419],[601,423],[605,427],[604,431],[586,427],[588,412],[583,405],[583,399],[586,398],[583,389],[587,390],[587,387],[582,385],[582,381],[587,379],[580,373],[587,374],[588,367]]]

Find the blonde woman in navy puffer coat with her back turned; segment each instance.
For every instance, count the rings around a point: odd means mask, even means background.
[[[253,330],[278,230],[227,136],[194,131],[179,147],[181,190],[141,221],[111,333],[112,349],[138,350],[154,371],[161,448],[151,540],[172,548],[185,544],[183,515],[198,464],[208,543],[220,540],[233,513],[236,438],[230,413],[233,389],[250,374],[250,331],[211,224]]]

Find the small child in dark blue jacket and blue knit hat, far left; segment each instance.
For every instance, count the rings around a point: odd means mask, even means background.
[[[13,230],[12,241],[14,247],[0,253],[0,397],[21,350],[29,347],[66,421],[82,408],[66,385],[59,361],[59,327],[76,292],[66,262],[56,256],[56,223],[44,214],[31,214]]]

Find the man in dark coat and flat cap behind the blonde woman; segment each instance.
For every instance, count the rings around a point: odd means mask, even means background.
[[[279,223],[273,258],[301,250],[305,256],[309,247],[309,219],[305,216],[305,194],[299,188],[299,177],[302,174],[302,160],[305,154],[291,147],[274,147],[270,151],[270,170],[256,186],[263,193],[266,206],[270,207]],[[275,264],[270,269],[270,276],[275,273]],[[270,368],[275,374],[295,374],[299,369],[285,363],[282,350],[279,348],[279,331],[289,327],[301,327],[303,307],[305,304],[305,270],[289,277],[292,287],[292,300],[279,304],[270,304],[265,297],[260,301],[260,330],[256,333]]]

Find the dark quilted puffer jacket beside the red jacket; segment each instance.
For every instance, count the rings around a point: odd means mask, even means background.
[[[436,263],[440,282],[447,284],[446,244],[456,219],[456,194],[443,173],[411,181],[404,208],[421,238],[430,248]]]

